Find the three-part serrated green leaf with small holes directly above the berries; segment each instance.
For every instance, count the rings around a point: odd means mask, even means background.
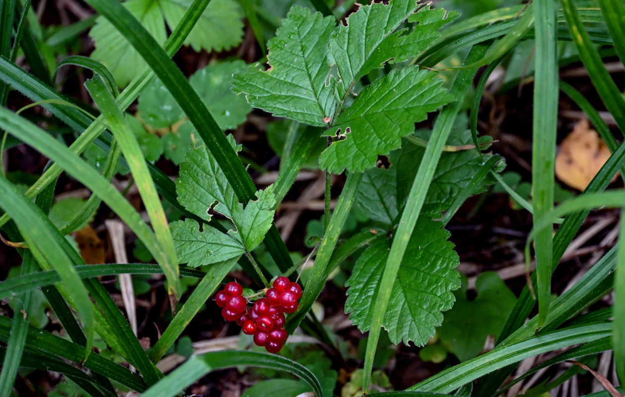
[[[228,140],[237,150],[232,136]],[[276,206],[273,186],[256,192],[244,207],[225,174],[206,146],[191,148],[180,167],[176,181],[178,201],[193,214],[210,221],[209,211],[220,213],[232,221],[232,229],[222,233],[209,225],[200,230],[192,219],[171,224],[171,233],[179,258],[189,266],[217,263],[252,251],[262,242],[271,227]]]

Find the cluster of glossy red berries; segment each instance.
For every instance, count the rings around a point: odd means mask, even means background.
[[[223,308],[221,315],[227,321],[236,321],[244,334],[254,335],[257,346],[264,346],[269,353],[277,353],[287,337],[284,313],[297,310],[297,299],[301,298],[302,289],[288,278],[278,277],[273,287],[267,289],[265,296],[254,302],[251,309],[247,309],[241,284],[232,281],[215,298],[217,306]]]

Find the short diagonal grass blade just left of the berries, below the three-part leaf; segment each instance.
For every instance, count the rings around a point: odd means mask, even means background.
[[[216,263],[211,266],[209,271],[204,275],[202,280],[197,284],[196,288],[184,303],[176,316],[171,320],[167,329],[165,329],[161,338],[158,339],[154,347],[150,351],[150,359],[156,363],[163,358],[164,354],[173,346],[174,342],[191,320],[195,317],[199,309],[211,294],[217,289],[217,286],[227,276],[232,266],[236,263],[236,258],[230,259],[222,263]]]

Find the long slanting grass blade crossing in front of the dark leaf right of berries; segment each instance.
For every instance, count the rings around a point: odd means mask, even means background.
[[[467,54],[464,64],[472,64],[477,61],[477,59],[481,59],[484,54],[486,54],[486,51],[486,46],[474,46],[471,51],[469,51],[469,54]],[[451,132],[451,127],[460,109],[462,98],[464,98],[464,94],[471,85],[475,73],[476,69],[461,69],[457,73],[456,79],[454,79],[454,83],[450,89],[450,93],[456,98],[456,102],[445,106],[441,114],[439,114],[436,124],[434,124],[432,136],[423,154],[421,166],[419,166],[419,171],[414,177],[404,213],[402,213],[401,220],[399,221],[399,227],[392,241],[391,251],[389,252],[384,273],[382,273],[382,278],[378,287],[376,306],[374,307],[373,318],[369,328],[369,338],[367,338],[367,350],[364,361],[364,386],[362,388],[364,391],[367,391],[369,387],[377,340],[380,336],[386,306],[391,298],[392,285],[397,278],[399,265],[406,252],[406,246],[412,235],[414,225],[417,223],[417,218],[421,212],[427,189],[429,189],[432,177],[434,176],[434,170],[436,169],[439,158],[441,158],[442,148]]]

